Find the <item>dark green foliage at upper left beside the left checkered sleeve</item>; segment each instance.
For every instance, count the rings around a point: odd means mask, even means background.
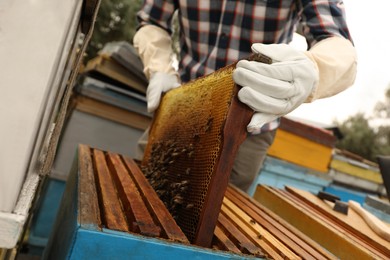
[[[104,44],[111,41],[132,43],[137,28],[136,15],[141,0],[102,0],[95,29],[86,51],[86,59],[94,58]]]

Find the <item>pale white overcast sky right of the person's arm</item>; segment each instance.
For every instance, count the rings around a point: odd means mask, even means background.
[[[384,100],[390,86],[390,1],[344,0],[344,4],[358,55],[356,81],[336,96],[301,105],[289,114],[293,118],[332,125],[359,112],[368,115]]]

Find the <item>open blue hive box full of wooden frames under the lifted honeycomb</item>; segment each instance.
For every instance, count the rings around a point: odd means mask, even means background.
[[[43,259],[336,259],[231,185],[210,237],[189,243],[134,160],[80,145]]]

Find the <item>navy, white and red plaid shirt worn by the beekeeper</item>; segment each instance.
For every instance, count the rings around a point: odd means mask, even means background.
[[[289,43],[298,26],[309,48],[334,35],[351,40],[342,0],[145,0],[138,21],[171,33],[176,10],[183,82],[248,57],[253,43]]]

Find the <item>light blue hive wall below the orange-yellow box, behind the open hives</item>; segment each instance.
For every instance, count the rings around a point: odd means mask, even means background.
[[[318,177],[321,175],[323,178]],[[323,190],[330,183],[331,179],[327,178],[324,173],[267,156],[263,168],[260,170],[248,193],[250,196],[253,196],[256,186],[259,184],[282,189],[285,186],[291,186],[318,193],[318,191]]]

